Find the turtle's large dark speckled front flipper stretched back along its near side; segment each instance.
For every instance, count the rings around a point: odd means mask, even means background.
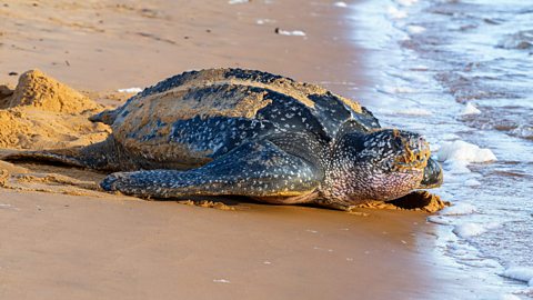
[[[248,196],[289,204],[311,201],[322,177],[312,163],[262,140],[247,142],[198,169],[118,172],[100,186],[139,197]]]

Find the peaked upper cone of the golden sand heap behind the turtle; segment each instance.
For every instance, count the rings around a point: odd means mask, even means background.
[[[101,106],[91,99],[39,70],[30,70],[20,76],[19,83],[6,104],[4,108],[31,106],[40,110],[64,113],[101,109]]]

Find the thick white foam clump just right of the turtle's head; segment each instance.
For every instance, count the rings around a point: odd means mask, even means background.
[[[473,143],[461,140],[443,142],[436,156],[439,161],[442,162],[461,161],[470,163],[497,160],[490,149],[481,149]]]

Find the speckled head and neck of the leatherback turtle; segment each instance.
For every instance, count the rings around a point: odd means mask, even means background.
[[[431,163],[431,177],[424,177],[429,161],[430,146],[418,133],[398,129],[348,132],[332,149],[324,196],[358,204],[392,200],[418,188],[438,186],[442,174],[436,162]]]

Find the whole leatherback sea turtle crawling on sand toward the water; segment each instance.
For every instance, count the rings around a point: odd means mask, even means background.
[[[122,171],[101,187],[140,197],[238,194],[335,209],[442,182],[420,134],[383,129],[353,100],[268,72],[184,72],[92,120],[112,126],[105,141],[18,158]]]

